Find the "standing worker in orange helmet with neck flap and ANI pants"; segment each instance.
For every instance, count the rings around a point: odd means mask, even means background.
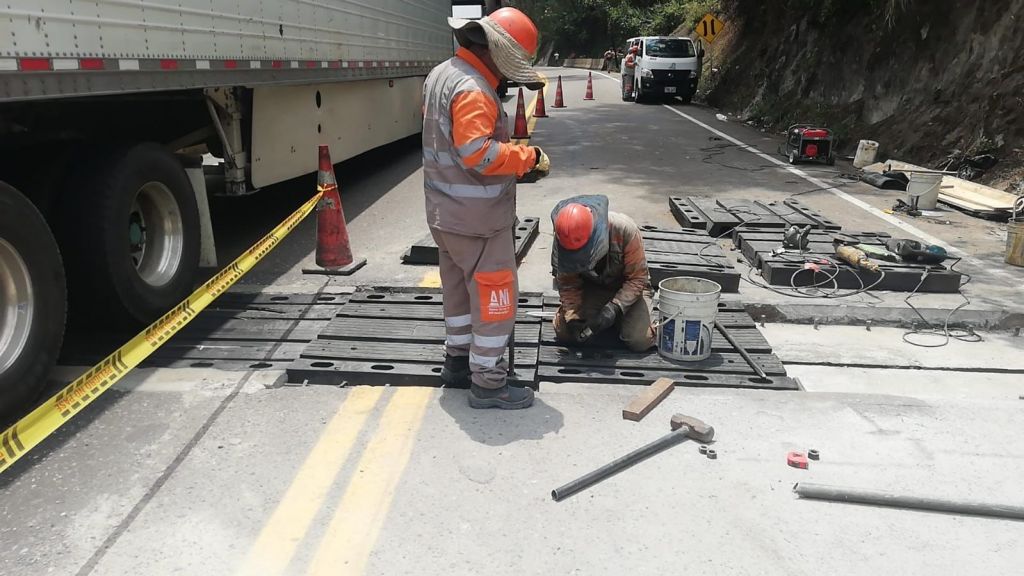
[[[515,182],[547,175],[551,163],[538,147],[509,143],[496,88],[541,81],[530,68],[537,27],[515,8],[449,25],[460,48],[423,86],[423,189],[444,294],[441,380],[470,383],[473,408],[526,408],[534,390],[508,385],[503,359],[518,301]]]

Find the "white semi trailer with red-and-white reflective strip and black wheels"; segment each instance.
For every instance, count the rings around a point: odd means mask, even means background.
[[[66,313],[152,321],[213,238],[199,159],[246,195],[415,134],[449,0],[0,4],[0,414]],[[201,240],[206,239],[206,241]]]

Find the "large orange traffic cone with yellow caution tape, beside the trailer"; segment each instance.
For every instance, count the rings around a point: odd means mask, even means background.
[[[319,147],[319,169],[316,172],[316,192],[321,199],[316,203],[316,265],[319,269],[303,269],[303,274],[327,274],[348,276],[367,263],[366,258],[352,257],[352,247],[348,243],[348,229],[345,227],[345,212],[341,209],[341,195],[338,181],[334,177],[334,164],[327,146]]]

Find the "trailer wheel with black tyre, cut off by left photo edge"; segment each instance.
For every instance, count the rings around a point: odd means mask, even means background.
[[[46,220],[0,182],[0,417],[44,388],[63,340],[66,294]]]

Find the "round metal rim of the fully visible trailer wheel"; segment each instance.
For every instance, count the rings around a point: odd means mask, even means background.
[[[174,279],[184,253],[181,208],[162,182],[147,182],[135,193],[128,214],[129,256],[150,286]]]

